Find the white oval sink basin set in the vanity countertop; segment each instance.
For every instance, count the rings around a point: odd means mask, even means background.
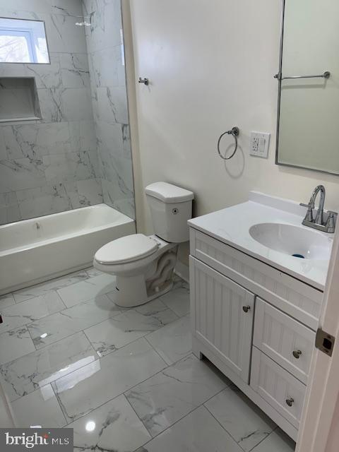
[[[333,240],[321,232],[283,223],[260,223],[249,228],[260,244],[295,258],[328,260]]]

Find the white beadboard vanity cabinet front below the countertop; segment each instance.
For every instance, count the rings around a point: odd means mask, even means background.
[[[193,350],[297,438],[323,292],[190,227]]]

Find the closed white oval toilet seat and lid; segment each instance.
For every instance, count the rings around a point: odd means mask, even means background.
[[[102,265],[129,263],[150,256],[160,244],[144,234],[132,234],[113,240],[95,253],[95,261]]]

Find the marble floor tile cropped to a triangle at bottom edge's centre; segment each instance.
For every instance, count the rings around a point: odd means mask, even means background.
[[[160,451],[242,452],[242,449],[208,410],[200,407],[136,452]]]

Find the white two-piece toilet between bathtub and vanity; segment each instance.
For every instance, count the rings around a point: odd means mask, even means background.
[[[102,246],[94,256],[98,270],[117,277],[114,302],[135,307],[172,289],[178,244],[189,240],[192,191],[156,182],[145,188],[155,234],[132,234]]]

